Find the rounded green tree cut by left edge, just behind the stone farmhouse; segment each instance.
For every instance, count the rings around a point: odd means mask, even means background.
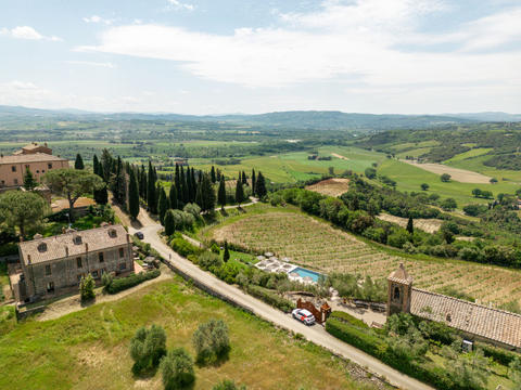
[[[37,193],[8,191],[0,194],[0,222],[11,229],[18,227],[22,237],[36,229],[49,211],[49,204]]]

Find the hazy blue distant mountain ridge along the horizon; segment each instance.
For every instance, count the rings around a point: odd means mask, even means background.
[[[170,120],[214,121],[267,126],[284,129],[354,130],[360,132],[390,129],[418,129],[478,121],[521,121],[521,115],[506,113],[403,115],[357,114],[338,110],[289,110],[267,114],[182,115],[147,113],[92,113],[79,109],[40,109],[0,105],[0,120],[15,118],[53,118],[63,120]]]

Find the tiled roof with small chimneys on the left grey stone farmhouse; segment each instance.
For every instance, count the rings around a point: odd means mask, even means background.
[[[115,235],[111,234],[114,232]],[[88,251],[97,251],[125,244],[127,244],[127,231],[120,224],[117,224],[33,239],[18,245],[24,263],[29,263],[30,256],[30,263],[35,264],[65,258],[67,257],[67,249],[68,257],[71,257],[86,253],[87,246]],[[46,246],[47,248],[43,250]]]

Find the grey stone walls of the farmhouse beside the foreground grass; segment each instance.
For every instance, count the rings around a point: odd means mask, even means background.
[[[123,257],[119,256],[119,248],[123,249]],[[99,260],[100,252],[103,252],[103,262]],[[78,268],[77,258],[81,258],[81,268]],[[51,268],[50,275],[46,272],[47,265]],[[27,297],[58,295],[61,289],[78,286],[81,276],[89,273],[100,283],[103,272],[114,272],[116,275],[126,275],[132,272],[132,245],[128,243],[102,251],[89,251],[81,256],[37,264],[23,264],[22,268],[26,275]],[[54,284],[54,291],[48,291],[48,285],[51,282]]]

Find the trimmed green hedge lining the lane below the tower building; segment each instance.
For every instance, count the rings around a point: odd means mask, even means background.
[[[379,359],[391,367],[423,382],[433,385],[435,388],[447,390],[474,390],[472,388],[461,388],[454,384],[442,367],[427,368],[415,362],[396,356],[392,352],[387,342],[381,337],[378,337],[370,328],[359,329],[338,317],[330,317],[326,322],[326,330],[342,341]]]

